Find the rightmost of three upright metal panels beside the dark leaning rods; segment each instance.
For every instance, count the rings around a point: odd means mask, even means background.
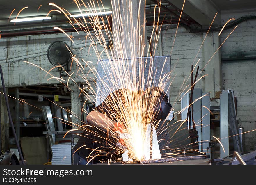
[[[210,155],[210,93],[202,93],[202,95],[207,95],[202,97],[202,152],[206,153],[207,155]]]

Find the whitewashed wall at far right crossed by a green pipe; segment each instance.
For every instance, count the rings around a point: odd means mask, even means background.
[[[222,21],[239,18],[244,15],[256,15],[255,11],[222,13]],[[240,23],[234,33],[226,40],[221,49],[223,58],[236,54],[256,57],[256,20]],[[221,34],[221,40],[232,31],[227,29]],[[237,117],[243,131],[256,129],[256,59],[222,61],[223,89],[234,90],[237,96]],[[253,150],[256,145],[256,131],[244,134],[245,149]]]

